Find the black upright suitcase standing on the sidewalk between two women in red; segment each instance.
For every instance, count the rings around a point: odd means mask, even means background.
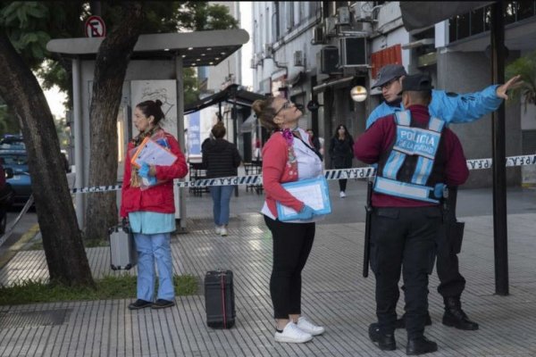
[[[206,325],[209,328],[232,328],[235,323],[232,271],[211,270],[205,274]]]

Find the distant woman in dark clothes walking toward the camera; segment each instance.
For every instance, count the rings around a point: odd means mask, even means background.
[[[330,157],[333,169],[349,169],[352,167],[354,158],[354,139],[348,133],[347,127],[339,124],[335,130],[335,135],[331,137]],[[348,179],[339,179],[340,198],[346,197],[346,184]]]

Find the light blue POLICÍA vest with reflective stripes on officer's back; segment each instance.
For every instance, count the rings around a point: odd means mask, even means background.
[[[381,170],[381,175],[376,179],[374,190],[387,195],[438,203],[439,201],[430,195],[433,193],[433,187],[424,185],[430,178],[445,122],[431,118],[427,129],[411,127],[409,111],[395,112],[395,120],[397,122],[395,143]],[[407,155],[416,155],[418,159],[411,181],[401,182],[397,180],[398,171],[404,165]]]

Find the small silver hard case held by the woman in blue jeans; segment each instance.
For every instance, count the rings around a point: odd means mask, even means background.
[[[130,270],[138,262],[134,235],[121,226],[109,229],[110,233],[110,268],[112,270]]]

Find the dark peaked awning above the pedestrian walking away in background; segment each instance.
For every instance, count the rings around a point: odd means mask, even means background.
[[[251,107],[251,104],[257,99],[264,99],[264,95],[259,95],[258,93],[249,92],[238,84],[231,84],[229,87],[226,87],[222,91],[215,93],[214,95],[209,95],[196,103],[189,104],[184,108],[184,114],[189,114],[192,112],[200,111],[205,109],[208,106],[218,104],[221,102],[227,102],[231,104],[237,104],[241,106]]]

